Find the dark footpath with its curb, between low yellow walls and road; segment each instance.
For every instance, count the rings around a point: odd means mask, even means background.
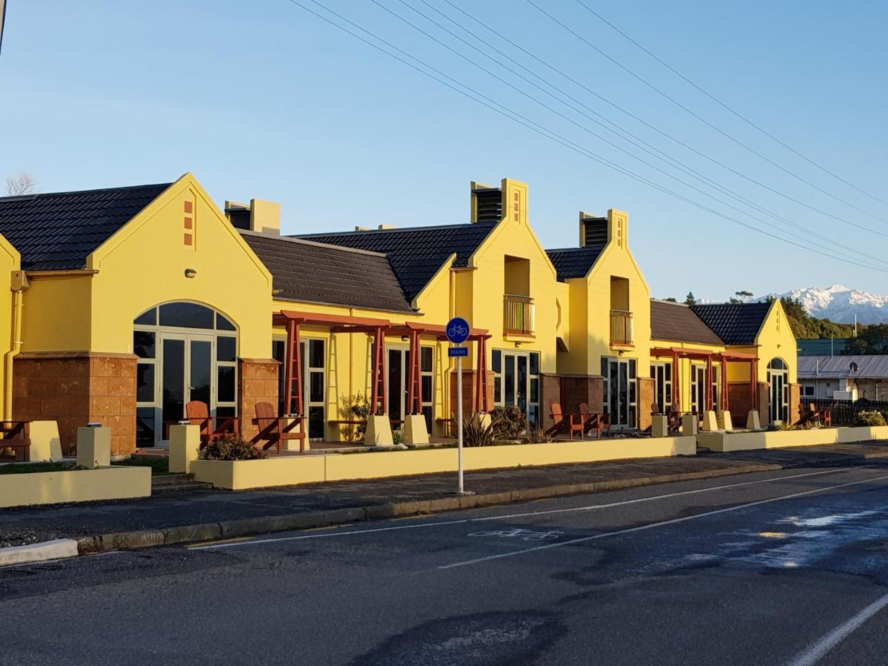
[[[468,497],[454,496],[456,474],[433,474],[4,509],[0,548],[64,538],[78,540],[81,552],[186,543],[744,472],[878,464],[886,457],[888,443],[868,442],[469,472],[465,487],[475,495]]]

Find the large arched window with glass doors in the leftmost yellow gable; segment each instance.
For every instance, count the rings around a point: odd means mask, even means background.
[[[176,301],[133,320],[136,442],[156,446],[186,402],[204,402],[211,416],[237,416],[237,327],[200,303]]]

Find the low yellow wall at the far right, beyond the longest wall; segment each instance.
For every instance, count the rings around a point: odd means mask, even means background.
[[[697,443],[712,451],[812,447],[868,440],[888,440],[888,425],[767,432],[700,432],[697,434]]]

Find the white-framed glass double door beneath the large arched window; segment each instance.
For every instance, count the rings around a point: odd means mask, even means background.
[[[213,337],[198,333],[161,333],[161,420],[164,426],[185,416],[186,402],[200,400],[215,408]],[[163,428],[166,440],[167,428]]]

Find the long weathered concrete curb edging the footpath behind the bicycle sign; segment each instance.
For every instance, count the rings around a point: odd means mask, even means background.
[[[751,472],[775,472],[785,468],[786,466],[781,464],[749,464],[706,472],[683,472],[652,477],[637,477],[635,479],[605,480],[543,488],[522,488],[502,493],[488,493],[487,495],[446,496],[431,500],[373,504],[331,511],[303,511],[277,516],[225,520],[218,523],[204,523],[202,525],[184,525],[163,529],[83,536],[74,543],[76,543],[77,550],[81,555],[87,555],[120,549],[234,539],[244,536],[265,535],[271,532],[285,532],[293,529],[329,527],[331,525],[345,525],[346,523],[360,522],[362,520],[391,519],[435,513],[437,511],[456,511],[459,509],[496,506],[497,504],[512,502],[530,502],[567,495],[597,493],[622,488],[638,488],[640,486],[651,486],[656,483],[714,479],[720,476]]]

